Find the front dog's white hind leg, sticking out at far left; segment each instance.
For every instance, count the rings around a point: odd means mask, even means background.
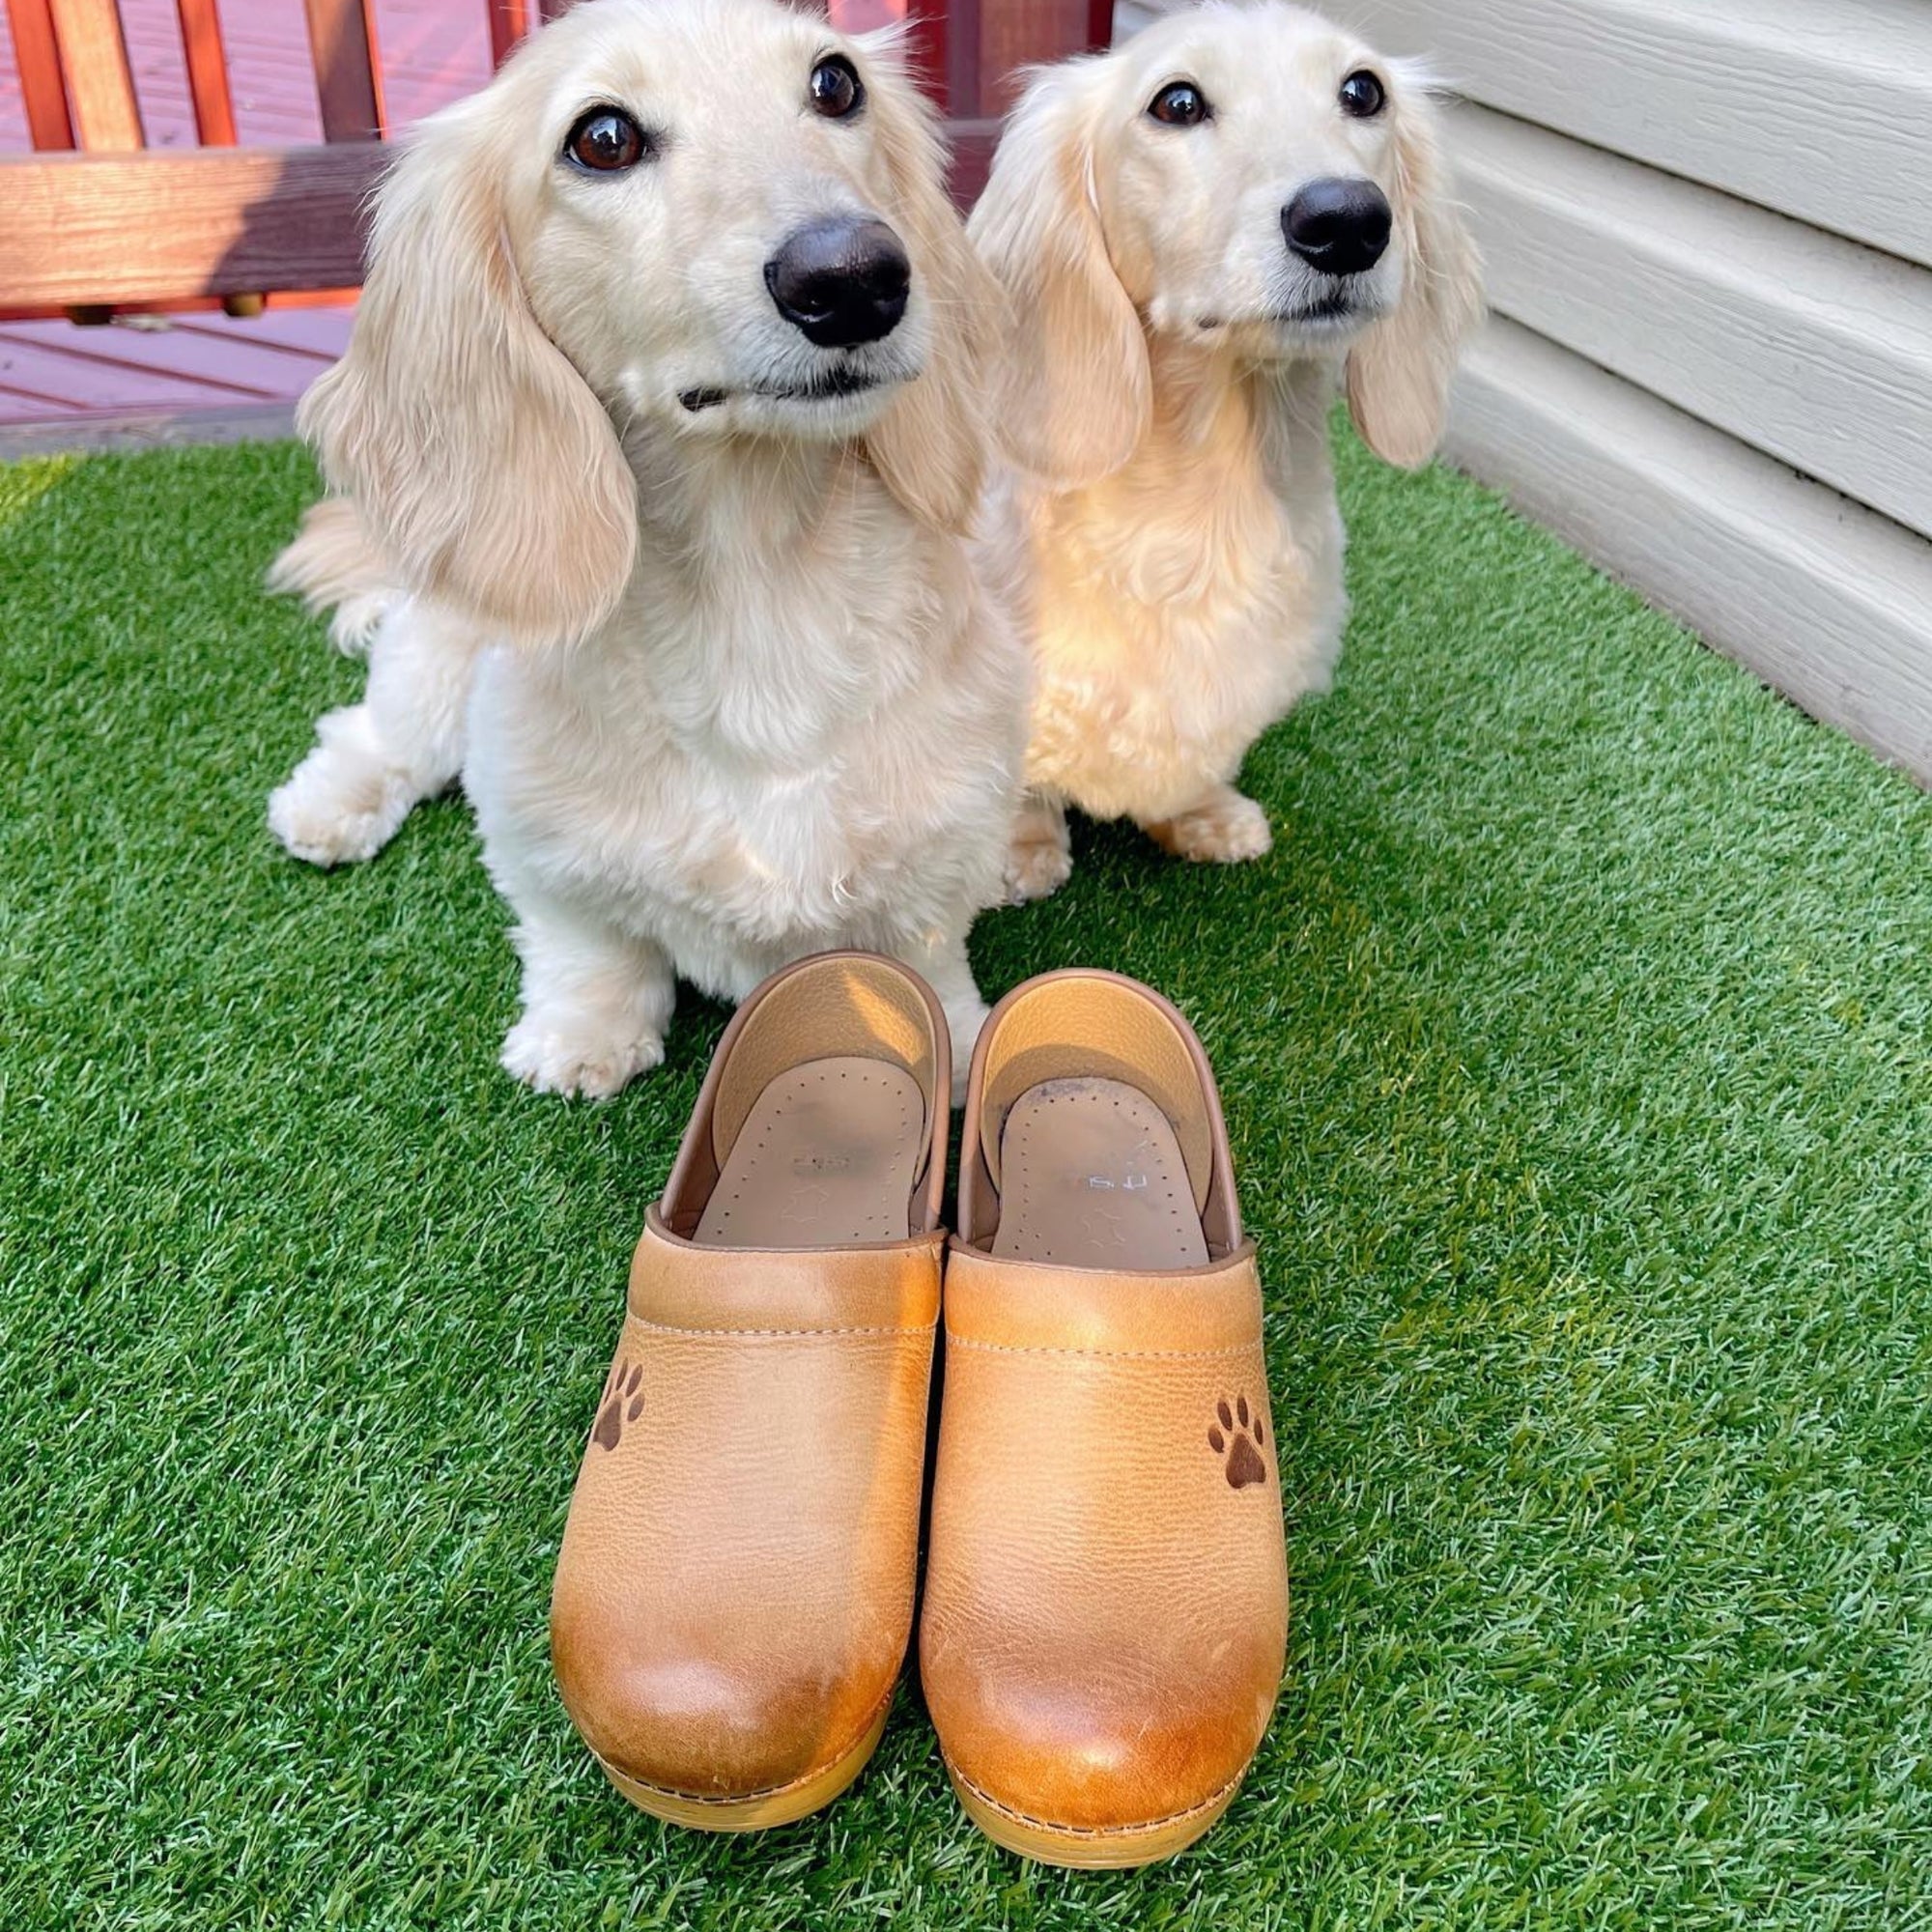
[[[296,858],[375,858],[419,800],[456,782],[479,641],[413,599],[383,618],[363,701],[321,719],[315,750],[269,798],[269,829]]]

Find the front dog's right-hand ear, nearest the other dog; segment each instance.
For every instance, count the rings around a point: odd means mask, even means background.
[[[866,450],[912,516],[964,531],[985,481],[985,386],[1003,299],[947,195],[939,120],[906,73],[898,37],[881,37],[871,46],[887,79],[873,87],[869,112],[893,182],[889,214],[923,292],[931,354],[866,437]]]

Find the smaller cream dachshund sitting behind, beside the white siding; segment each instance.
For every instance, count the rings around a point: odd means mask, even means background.
[[[970,234],[1016,309],[1037,667],[1009,889],[1066,804],[1258,858],[1248,746],[1341,647],[1327,417],[1420,464],[1480,315],[1424,77],[1277,0],[1169,15],[1034,75]]]

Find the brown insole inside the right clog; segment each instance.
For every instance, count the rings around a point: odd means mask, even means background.
[[[999,1142],[993,1254],[1061,1267],[1206,1267],[1175,1124],[1124,1080],[1041,1080]]]

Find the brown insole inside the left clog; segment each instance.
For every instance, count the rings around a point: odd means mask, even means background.
[[[925,1151],[925,1095],[891,1061],[806,1061],[757,1095],[692,1240],[842,1248],[904,1240]]]

